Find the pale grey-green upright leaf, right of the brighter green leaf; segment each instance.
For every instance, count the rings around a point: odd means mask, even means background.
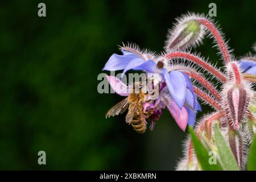
[[[220,129],[218,129],[218,123],[214,125],[214,137],[222,168],[225,171],[238,171],[237,161],[228,143],[226,143],[226,140],[222,136]]]

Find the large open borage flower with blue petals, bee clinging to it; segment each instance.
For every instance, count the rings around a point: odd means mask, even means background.
[[[185,130],[187,124],[193,126],[195,124],[197,111],[201,111],[201,106],[197,101],[189,77],[180,71],[172,70],[168,72],[167,69],[164,68],[163,61],[158,60],[158,62],[155,63],[152,58],[153,56],[145,56],[143,53],[137,55],[124,50],[122,50],[122,53],[123,55],[117,55],[114,53],[112,56],[110,56],[103,70],[123,70],[121,79],[123,75],[125,75],[125,73],[130,69],[146,71],[147,73],[158,73],[163,78],[162,85],[164,83],[167,86],[168,94],[170,94],[170,97],[167,98],[169,102],[163,104],[159,100],[155,101],[155,104],[151,104],[150,106],[167,106],[175,121],[183,131]],[[148,59],[148,57],[151,57],[151,59]],[[164,92],[162,92],[162,96],[163,93]],[[164,94],[164,97],[166,97],[166,93]],[[162,113],[161,109],[163,108],[159,107],[159,111],[156,113]]]

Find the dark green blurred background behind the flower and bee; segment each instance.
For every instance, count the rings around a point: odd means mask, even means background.
[[[40,2],[45,18],[38,16]],[[162,51],[174,19],[187,11],[207,14],[210,2],[1,1],[0,169],[175,169],[187,132],[168,111],[143,135],[126,125],[125,115],[105,119],[122,97],[98,94],[97,76],[119,53],[117,45]],[[216,4],[234,53],[252,51],[255,1]],[[220,57],[211,42],[197,51],[215,64]],[[40,150],[45,166],[38,165]]]

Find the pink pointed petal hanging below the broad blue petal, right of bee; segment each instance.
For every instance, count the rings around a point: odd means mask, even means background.
[[[180,127],[181,130],[185,131],[187,124],[188,124],[188,112],[185,107],[181,107],[181,109],[175,104],[174,101],[170,101],[170,105],[168,109],[174,117],[177,125]]]

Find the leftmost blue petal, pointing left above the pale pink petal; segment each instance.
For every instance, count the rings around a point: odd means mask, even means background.
[[[134,54],[129,55],[117,55],[114,53],[105,64],[105,67],[102,70],[107,71],[117,71],[125,69],[127,64],[130,63],[131,60],[139,59],[139,56]]]

